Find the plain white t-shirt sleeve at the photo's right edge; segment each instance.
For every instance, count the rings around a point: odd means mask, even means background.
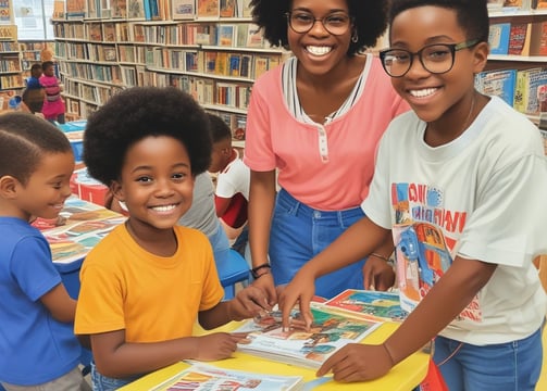
[[[547,251],[545,234],[537,229],[545,226],[537,209],[545,207],[546,166],[543,156],[529,155],[490,173],[488,186],[476,194],[458,254],[520,267],[538,255],[533,249]]]

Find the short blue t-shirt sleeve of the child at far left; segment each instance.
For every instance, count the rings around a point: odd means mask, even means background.
[[[11,272],[21,290],[33,301],[61,283],[45,238],[22,239],[13,250]]]

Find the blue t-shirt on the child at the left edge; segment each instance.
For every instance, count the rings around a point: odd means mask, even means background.
[[[0,216],[0,381],[34,386],[78,365],[73,324],[55,320],[40,298],[61,283],[41,232]]]

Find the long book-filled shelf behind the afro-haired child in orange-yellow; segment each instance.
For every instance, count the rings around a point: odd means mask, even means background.
[[[105,17],[65,13],[52,20],[67,117],[87,117],[124,88],[173,86],[221,116],[243,147],[252,84],[289,52],[263,39],[243,12],[248,1],[234,1],[229,12],[222,9],[225,2],[213,1],[217,9],[208,8],[207,15],[201,1],[194,8],[194,1],[172,3],[176,10],[163,10],[163,18],[114,12],[111,2],[110,12],[99,13]]]

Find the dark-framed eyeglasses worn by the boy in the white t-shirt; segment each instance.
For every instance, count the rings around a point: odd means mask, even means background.
[[[478,39],[472,39],[460,43],[433,43],[414,53],[406,49],[386,49],[380,52],[380,59],[384,71],[391,77],[405,76],[412,67],[414,56],[420,59],[427,72],[438,75],[452,68],[458,50],[474,47],[478,42]]]

